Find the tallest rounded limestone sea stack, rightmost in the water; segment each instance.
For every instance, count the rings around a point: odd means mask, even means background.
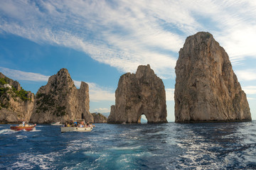
[[[186,39],[175,69],[176,122],[252,120],[228,54],[210,33]]]

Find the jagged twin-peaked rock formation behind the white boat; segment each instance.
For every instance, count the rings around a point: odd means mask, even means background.
[[[80,89],[77,89],[68,69],[60,69],[36,93],[31,122],[51,123],[85,118],[86,122],[92,123],[89,101],[88,84],[82,81]]]

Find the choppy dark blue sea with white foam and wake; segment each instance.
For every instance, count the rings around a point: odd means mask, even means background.
[[[95,125],[0,125],[0,169],[256,169],[256,121]]]

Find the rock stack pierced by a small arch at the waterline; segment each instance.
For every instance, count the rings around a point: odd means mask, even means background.
[[[115,91],[107,123],[140,123],[146,115],[148,123],[166,123],[166,94],[163,81],[147,66],[139,66],[136,74],[123,74]]]

